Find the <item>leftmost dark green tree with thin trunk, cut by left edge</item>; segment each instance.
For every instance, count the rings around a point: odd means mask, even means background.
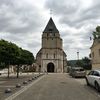
[[[8,67],[8,77],[9,65],[15,65],[18,56],[20,56],[20,54],[17,45],[5,40],[0,40],[0,63]]]

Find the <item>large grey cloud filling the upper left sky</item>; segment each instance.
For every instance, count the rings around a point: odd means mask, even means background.
[[[38,10],[19,0],[0,2],[0,30],[9,33],[28,33],[41,26]],[[37,20],[38,19],[38,20]]]

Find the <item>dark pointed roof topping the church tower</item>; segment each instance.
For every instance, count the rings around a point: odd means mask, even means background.
[[[47,26],[45,27],[43,33],[59,33],[58,29],[56,28],[52,18],[48,21]]]

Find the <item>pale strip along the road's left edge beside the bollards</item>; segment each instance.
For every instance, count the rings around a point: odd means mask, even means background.
[[[45,75],[41,76],[39,79],[33,81],[31,84],[25,86],[24,88],[22,88],[21,90],[19,90],[18,92],[12,94],[11,96],[9,96],[8,98],[6,98],[5,100],[13,100],[14,98],[16,98],[18,95],[20,95],[21,93],[23,93],[24,91],[26,91],[28,88],[30,88],[32,85],[34,85],[35,83],[37,83],[38,81],[40,81]]]

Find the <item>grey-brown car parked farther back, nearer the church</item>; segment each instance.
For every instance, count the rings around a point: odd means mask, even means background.
[[[72,77],[85,77],[86,71],[82,67],[72,67],[69,74]]]

